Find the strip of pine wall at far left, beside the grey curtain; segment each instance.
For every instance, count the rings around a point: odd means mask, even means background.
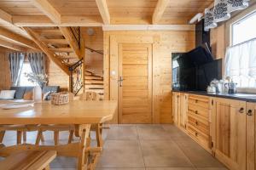
[[[9,59],[5,51],[0,50],[0,90],[9,89],[11,86]]]

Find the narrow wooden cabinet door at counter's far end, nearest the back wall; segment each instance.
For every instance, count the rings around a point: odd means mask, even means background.
[[[172,93],[172,120],[178,126],[180,115],[180,94]]]

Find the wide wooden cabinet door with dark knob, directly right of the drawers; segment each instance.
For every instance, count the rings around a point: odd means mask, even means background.
[[[215,99],[215,156],[233,170],[246,170],[246,102]]]

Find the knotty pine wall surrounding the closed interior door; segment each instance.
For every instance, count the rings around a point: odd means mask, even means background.
[[[110,38],[127,36],[154,38],[153,45],[153,122],[172,122],[172,53],[195,48],[195,31],[104,31],[104,95],[111,99],[109,75]],[[117,123],[117,114],[114,117]]]

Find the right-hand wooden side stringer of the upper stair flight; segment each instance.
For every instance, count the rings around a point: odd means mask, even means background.
[[[83,59],[83,56],[81,55],[81,50],[79,47],[79,42],[77,42],[76,37],[74,37],[73,32],[71,31],[70,27],[59,27],[63,36],[67,39],[68,44],[73,49],[74,53],[77,55],[79,59]],[[80,38],[81,39],[81,38]],[[80,41],[81,42],[81,41]]]

